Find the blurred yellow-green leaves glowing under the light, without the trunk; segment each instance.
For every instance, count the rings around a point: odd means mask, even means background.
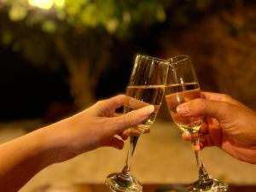
[[[115,35],[117,38],[129,38],[133,26],[137,24],[151,26],[155,22],[165,21],[165,8],[172,3],[167,0],[139,2],[66,0],[64,5],[58,6],[60,0],[49,0],[48,3],[52,3],[50,9],[38,9],[29,2],[26,0],[1,2],[2,15],[6,16],[1,20],[2,42],[6,46],[12,46],[15,51],[21,50],[32,63],[46,64],[48,67],[56,65],[51,54],[54,50],[49,46],[54,43],[53,38],[79,41],[79,37],[83,36],[86,41],[93,43],[97,40],[90,38],[99,36]],[[83,47],[90,45],[88,42],[83,44]],[[96,44],[91,44],[89,49],[98,48]]]

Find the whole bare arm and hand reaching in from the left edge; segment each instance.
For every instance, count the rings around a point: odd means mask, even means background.
[[[125,96],[96,102],[70,118],[0,145],[0,189],[18,191],[44,167],[100,147],[123,148],[123,132],[148,118],[154,106],[118,115]],[[119,135],[120,137],[116,137]]]

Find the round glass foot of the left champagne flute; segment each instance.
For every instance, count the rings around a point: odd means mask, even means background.
[[[143,185],[136,177],[113,173],[108,175],[105,184],[112,192],[143,192]]]

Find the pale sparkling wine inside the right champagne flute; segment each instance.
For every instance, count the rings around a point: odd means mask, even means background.
[[[177,126],[187,134],[197,133],[201,127],[202,117],[182,117],[177,113],[177,106],[183,102],[201,98],[198,83],[166,85],[166,103],[169,113]]]

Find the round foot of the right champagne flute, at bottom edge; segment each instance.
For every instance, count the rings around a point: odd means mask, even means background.
[[[207,182],[196,181],[189,185],[189,192],[225,192],[229,186],[216,178],[210,178]]]

